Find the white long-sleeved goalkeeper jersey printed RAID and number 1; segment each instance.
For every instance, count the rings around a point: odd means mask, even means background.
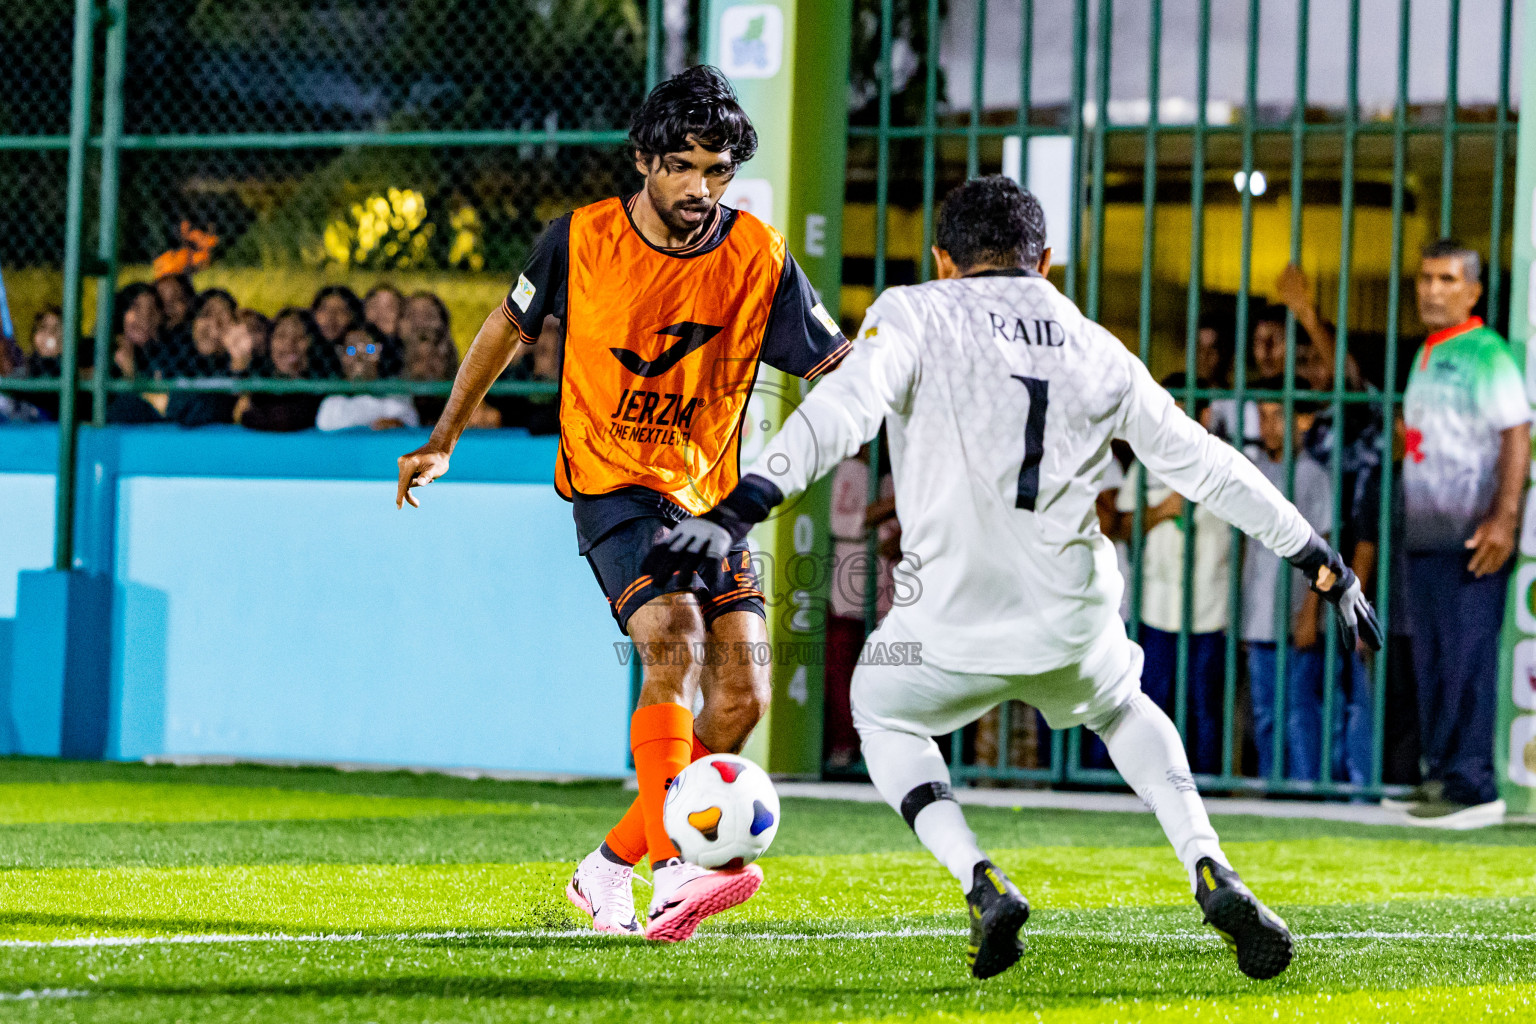
[[[938,668],[1061,668],[1118,617],[1124,580],[1094,510],[1114,438],[1281,556],[1312,533],[1252,462],[1034,272],[883,292],[852,353],[748,471],[788,497],[882,421],[915,580],[915,597],[900,594],[889,614]]]

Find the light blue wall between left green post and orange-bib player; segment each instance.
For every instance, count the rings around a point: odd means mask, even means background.
[[[472,434],[396,511],[395,456],[422,438],[84,431],[77,568],[114,582],[104,754],[624,774],[622,636],[553,439]]]

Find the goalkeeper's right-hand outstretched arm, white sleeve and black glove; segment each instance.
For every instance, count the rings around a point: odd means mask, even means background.
[[[1147,471],[1301,570],[1312,590],[1338,611],[1347,651],[1355,649],[1356,637],[1379,651],[1376,611],[1339,553],[1243,453],[1186,416],[1129,352],[1124,364],[1130,379],[1117,434]]]

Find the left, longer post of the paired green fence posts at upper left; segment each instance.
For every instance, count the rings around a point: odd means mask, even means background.
[[[75,376],[80,350],[80,267],[84,221],[86,144],[91,135],[91,64],[95,55],[95,5],[75,0],[75,46],[69,92],[69,177],[65,197],[63,352],[58,361],[58,482],[54,505],[54,568],[74,565],[75,527]]]

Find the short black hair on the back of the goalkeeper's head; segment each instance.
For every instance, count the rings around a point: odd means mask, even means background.
[[[962,270],[1035,267],[1046,252],[1046,213],[1028,189],[1000,173],[971,178],[945,197],[934,244]]]

